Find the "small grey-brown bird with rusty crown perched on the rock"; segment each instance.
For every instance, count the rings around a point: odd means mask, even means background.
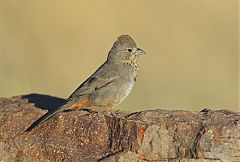
[[[130,35],[120,35],[108,52],[106,61],[53,111],[48,111],[25,132],[31,131],[59,112],[91,106],[113,108],[129,95],[136,81],[139,56],[145,52]]]

